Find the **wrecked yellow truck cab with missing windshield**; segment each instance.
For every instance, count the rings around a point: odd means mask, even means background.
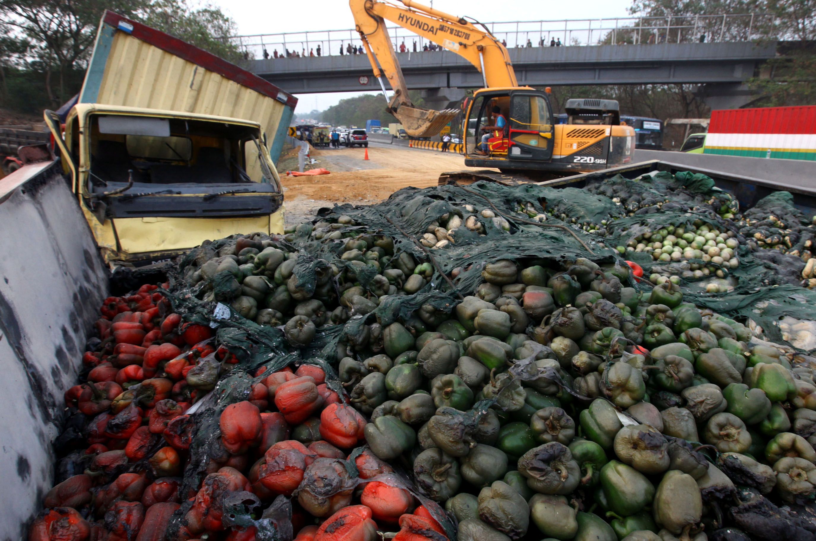
[[[77,104],[63,172],[104,259],[144,264],[233,233],[282,233],[283,194],[258,122]]]

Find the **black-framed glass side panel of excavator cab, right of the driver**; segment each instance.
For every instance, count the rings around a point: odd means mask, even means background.
[[[554,127],[547,95],[534,91],[512,92],[509,126],[509,159],[541,162],[552,159]]]

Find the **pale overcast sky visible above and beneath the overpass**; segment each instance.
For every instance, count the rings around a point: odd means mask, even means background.
[[[353,29],[347,0],[212,0],[238,24],[241,35]],[[396,2],[395,0],[395,3]],[[431,3],[426,0],[424,3]],[[628,16],[631,0],[433,0],[433,7],[483,23],[512,20],[564,20],[592,16],[594,20]],[[535,41],[535,40],[534,40]],[[407,42],[406,42],[407,43]],[[270,51],[271,53],[272,51]],[[286,90],[286,89],[284,89]],[[389,89],[390,90],[390,89]],[[324,110],[361,92],[298,95],[298,113]]]

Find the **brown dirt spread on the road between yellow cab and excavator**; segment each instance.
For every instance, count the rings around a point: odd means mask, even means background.
[[[314,149],[317,163],[330,175],[286,176],[281,173],[286,206],[286,223],[299,224],[323,206],[352,203],[369,205],[387,199],[406,186],[436,186],[443,171],[466,169],[463,157],[455,153],[408,149],[371,144],[366,149]],[[296,160],[295,164],[296,166]]]

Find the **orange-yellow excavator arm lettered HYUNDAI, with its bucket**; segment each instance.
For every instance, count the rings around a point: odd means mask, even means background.
[[[382,0],[349,0],[348,3],[371,69],[381,85],[382,78],[387,78],[394,91],[388,110],[401,121],[408,135],[436,135],[458,111],[414,107],[385,27],[386,20],[462,56],[482,74],[485,86],[518,86],[507,49],[486,29],[478,28],[463,17],[449,15],[413,0],[401,2],[405,7]]]

